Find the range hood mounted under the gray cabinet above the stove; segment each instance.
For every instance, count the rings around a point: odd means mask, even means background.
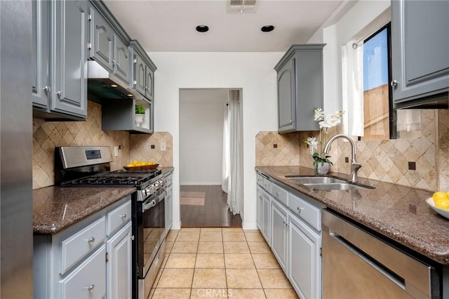
[[[88,100],[142,100],[143,96],[94,60],[88,60]]]

